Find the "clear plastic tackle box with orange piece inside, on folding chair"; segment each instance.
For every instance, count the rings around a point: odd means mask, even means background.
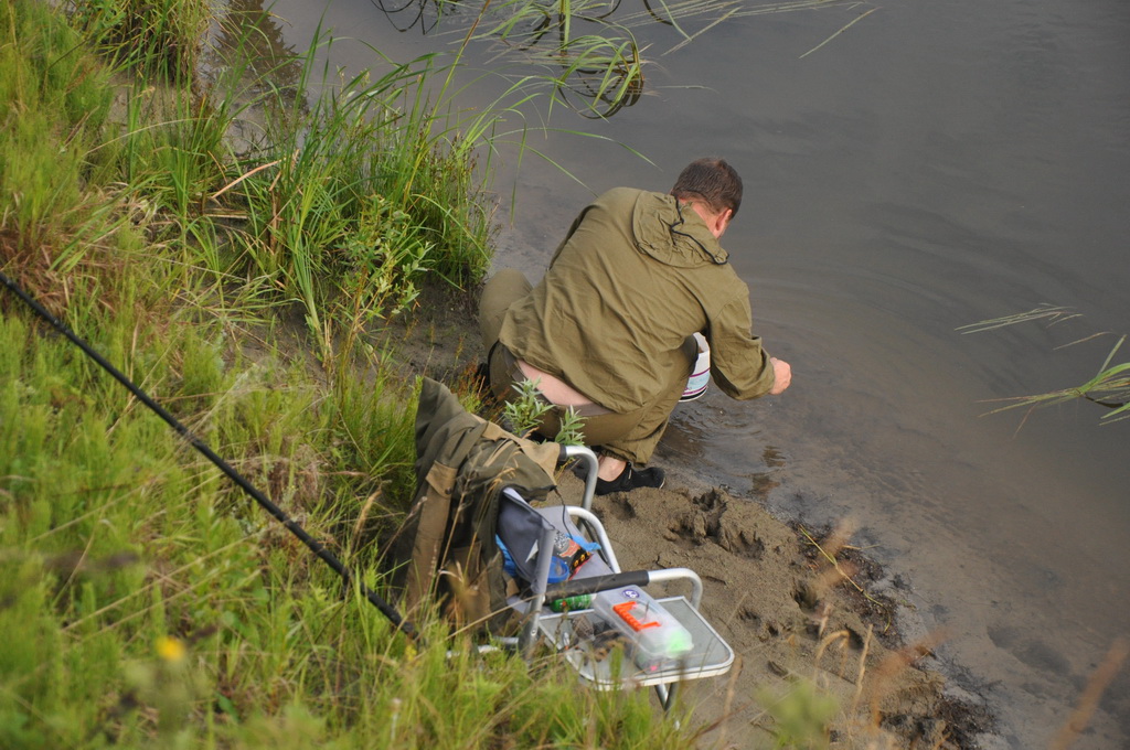
[[[636,664],[647,671],[690,651],[690,631],[673,614],[636,586],[602,591],[592,598],[597,616],[633,644]]]

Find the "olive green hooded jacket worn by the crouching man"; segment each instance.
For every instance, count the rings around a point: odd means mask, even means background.
[[[702,218],[675,198],[616,188],[573,221],[545,278],[506,313],[499,340],[617,413],[653,403],[695,331],[728,395],[773,387],[750,332],[749,288]]]

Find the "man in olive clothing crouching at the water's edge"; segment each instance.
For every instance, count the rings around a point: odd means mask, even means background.
[[[646,464],[698,357],[734,399],[777,394],[792,368],[753,334],[749,288],[719,238],[741,203],[741,177],[722,159],[689,164],[669,194],[615,188],[573,221],[545,277],[531,287],[504,269],[479,303],[490,389],[538,384],[554,404],[538,431],[557,434],[565,411],[600,446],[597,494],[661,487]]]

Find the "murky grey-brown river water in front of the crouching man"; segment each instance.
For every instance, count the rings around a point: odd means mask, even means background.
[[[414,8],[273,11],[297,50],[320,21],[359,40],[330,53],[356,71],[380,64],[360,42],[401,61],[450,45]],[[670,27],[634,30],[644,96],[553,120],[611,140],[530,136],[575,180],[503,155],[496,189],[518,200],[496,263],[536,279],[594,192],[734,164],[746,198],[723,244],[793,386],[681,405],[657,461],[808,524],[850,518],[909,636],[944,633],[933,665],[997,713],[984,747],[1049,747],[1130,636],[1130,420],[1101,426],[1081,401],[985,412],[1085,382],[1115,339],[1063,345],[1130,332],[1130,3],[840,3],[730,18],[673,52]],[[1042,303],[1081,316],[957,331]],[[1125,668],[1074,747],[1130,747]]]

